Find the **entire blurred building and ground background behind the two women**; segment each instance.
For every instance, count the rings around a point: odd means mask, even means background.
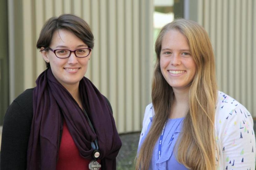
[[[80,16],[94,34],[85,76],[112,105],[123,141],[119,169],[133,169],[144,109],[151,102],[154,41],[175,18],[207,30],[218,89],[256,117],[255,9],[255,0],[1,0],[0,125],[9,104],[44,71],[36,42],[44,22],[62,13]]]

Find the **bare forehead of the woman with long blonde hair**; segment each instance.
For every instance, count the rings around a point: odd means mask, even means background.
[[[171,47],[189,49],[187,37],[176,29],[167,31],[162,39],[162,49]]]

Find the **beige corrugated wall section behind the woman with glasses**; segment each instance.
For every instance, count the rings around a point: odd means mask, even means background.
[[[45,69],[36,49],[44,22],[74,13],[95,37],[85,76],[112,104],[119,133],[141,130],[153,70],[152,0],[9,0],[8,5],[10,102],[34,87]]]

